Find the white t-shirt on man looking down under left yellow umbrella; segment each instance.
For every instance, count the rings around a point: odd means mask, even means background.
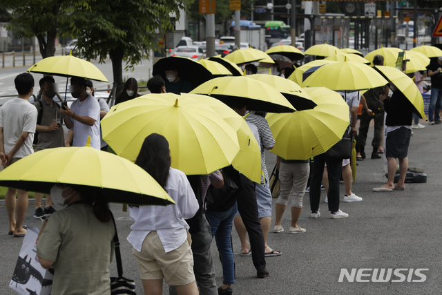
[[[85,146],[88,142],[88,136],[90,136],[90,146],[94,149],[100,149],[100,137],[99,137],[99,103],[93,96],[88,96],[83,102],[78,99],[73,102],[70,109],[81,117],[91,117],[95,120],[93,126],[89,126],[72,120],[74,122],[74,142],[73,146]],[[72,130],[72,129],[71,129]]]

